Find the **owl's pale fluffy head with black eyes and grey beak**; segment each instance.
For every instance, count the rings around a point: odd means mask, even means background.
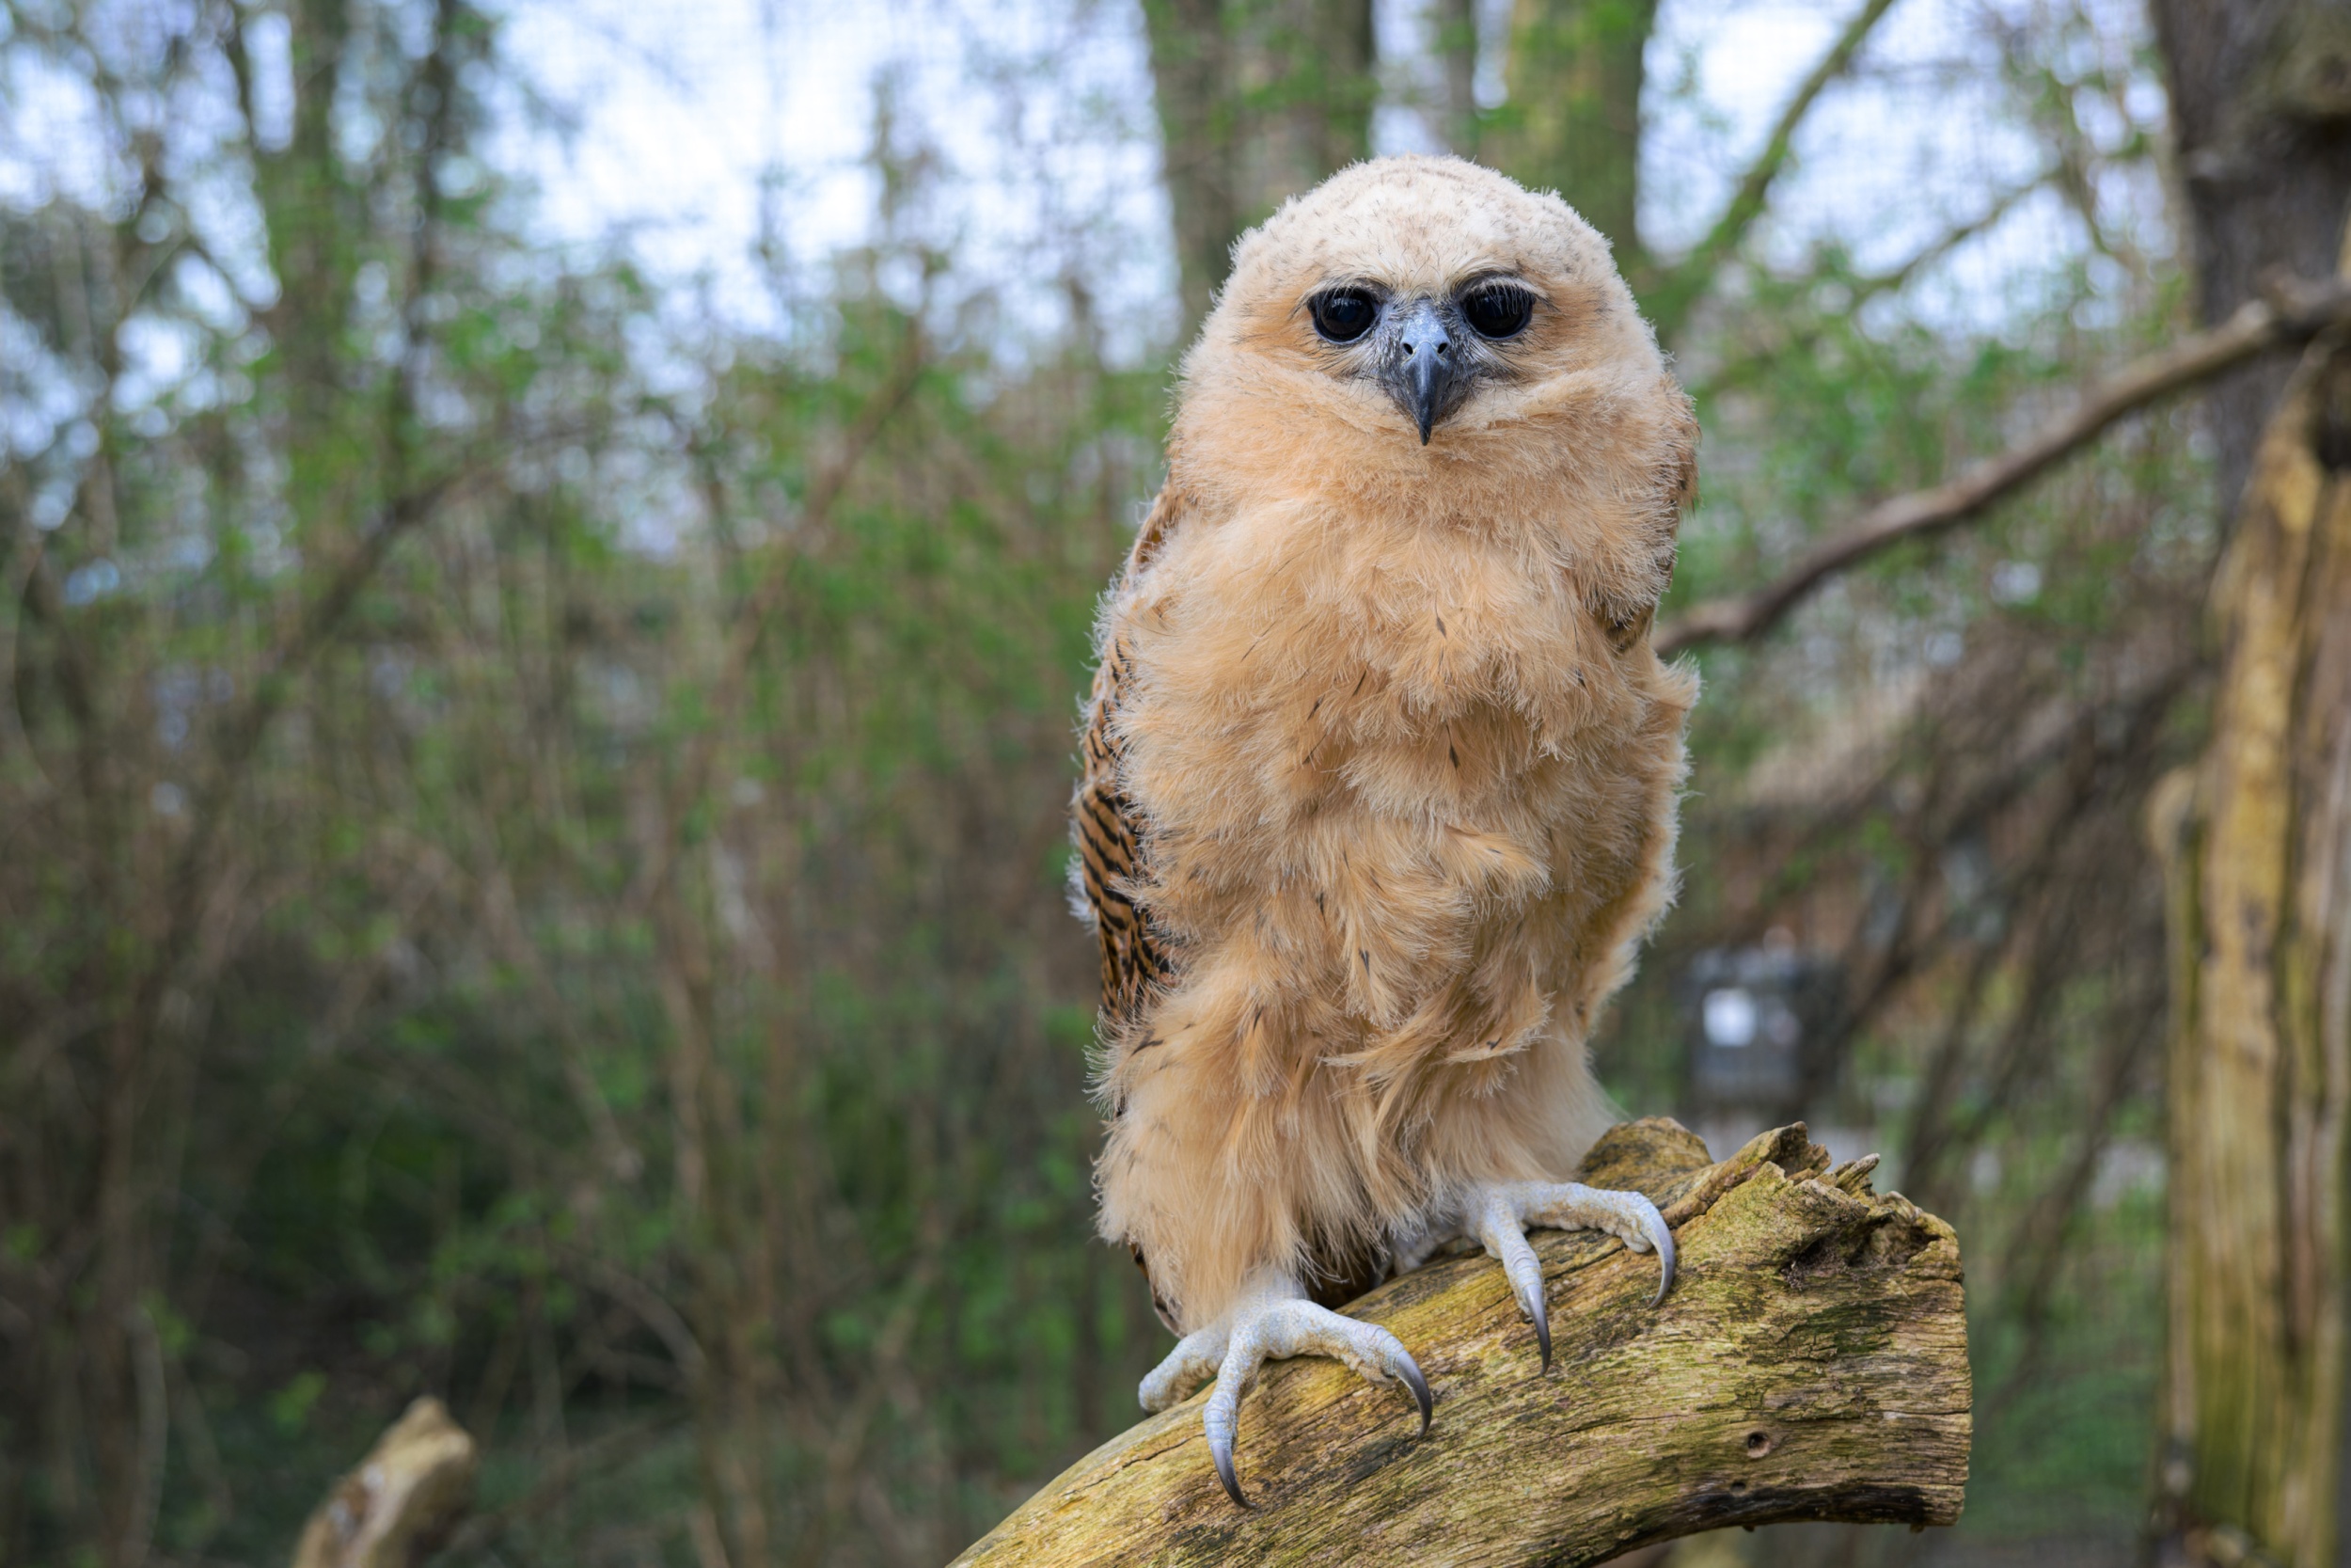
[[[1396,444],[1472,456],[1660,378],[1608,242],[1566,202],[1458,158],[1380,158],[1241,237],[1185,402],[1404,463]]]

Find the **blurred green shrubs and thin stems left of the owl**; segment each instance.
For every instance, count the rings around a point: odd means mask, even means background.
[[[214,21],[193,56],[235,54]],[[527,207],[433,190],[480,14],[294,33],[404,134],[353,162],[306,94],[249,169],[277,303],[110,301],[202,369],[5,470],[0,1013],[38,1093],[0,1293],[52,1338],[0,1352],[0,1403],[92,1413],[0,1422],[0,1561],[139,1528],[118,1267],[169,1366],[169,1552],[282,1556],[440,1392],[489,1502],[625,1469],[501,1549],[684,1559],[710,1509],[734,1552],[884,1552],[837,1481],[879,1474],[943,1556],[1110,1429],[1157,1333],[1089,1244],[1058,872],[1164,371],[1072,341],[1006,374],[889,303],[889,249],[776,339],[679,331],[625,266],[534,254]],[[35,216],[89,266],[141,223]],[[12,263],[12,320],[103,378],[42,275]],[[66,588],[101,562],[115,592]],[[150,976],[188,1001],[143,1013]],[[127,1173],[75,1105],[139,1107]],[[120,1262],[52,1262],[113,1190],[172,1197]]]

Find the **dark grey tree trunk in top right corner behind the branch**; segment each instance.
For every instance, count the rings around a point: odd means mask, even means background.
[[[2198,306],[2217,324],[2271,268],[2335,270],[2351,207],[2351,5],[2154,0],[2149,9],[2172,89]],[[2248,364],[2212,390],[2224,505],[2245,487],[2290,369]]]

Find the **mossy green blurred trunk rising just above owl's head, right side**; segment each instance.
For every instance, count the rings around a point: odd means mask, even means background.
[[[1516,0],[1509,99],[1479,158],[1535,190],[1556,190],[1615,244],[1643,287],[1639,233],[1643,54],[1657,0]]]

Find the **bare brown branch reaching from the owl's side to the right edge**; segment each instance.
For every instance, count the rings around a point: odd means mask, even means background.
[[[2351,284],[2280,284],[2271,299],[2250,301],[2219,327],[2135,360],[2104,386],[2088,390],[2074,414],[2034,440],[1987,458],[1935,489],[1881,501],[1843,534],[1813,545],[1780,581],[1749,595],[1707,599],[1686,609],[1657,628],[1655,646],[1660,654],[1679,654],[1700,642],[1761,637],[1846,567],[1904,538],[1925,538],[1968,522],[2059,458],[2090,444],[2118,418],[2210,381],[2271,348],[2306,343],[2339,322],[2351,322]]]

